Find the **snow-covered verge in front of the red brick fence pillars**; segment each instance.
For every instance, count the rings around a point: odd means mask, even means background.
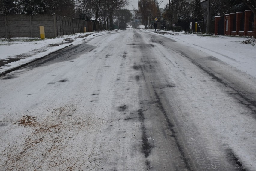
[[[144,31],[154,32],[152,29]],[[205,52],[256,78],[256,46],[242,43],[248,40],[248,37],[186,34],[185,32],[163,30],[157,30],[154,33],[171,38],[186,45],[187,48],[192,47]]]

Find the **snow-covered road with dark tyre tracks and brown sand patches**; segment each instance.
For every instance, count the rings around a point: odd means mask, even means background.
[[[0,82],[0,170],[256,168],[255,78],[174,39],[96,35]]]

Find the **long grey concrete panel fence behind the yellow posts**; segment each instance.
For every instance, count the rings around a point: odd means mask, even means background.
[[[44,26],[45,37],[93,31],[92,21],[82,21],[53,15],[0,15],[0,37],[40,37],[39,26]]]

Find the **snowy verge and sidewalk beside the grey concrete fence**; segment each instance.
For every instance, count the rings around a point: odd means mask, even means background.
[[[0,38],[0,75],[72,44],[81,44],[85,39],[108,32],[110,31],[76,33],[44,40],[28,37]]]

